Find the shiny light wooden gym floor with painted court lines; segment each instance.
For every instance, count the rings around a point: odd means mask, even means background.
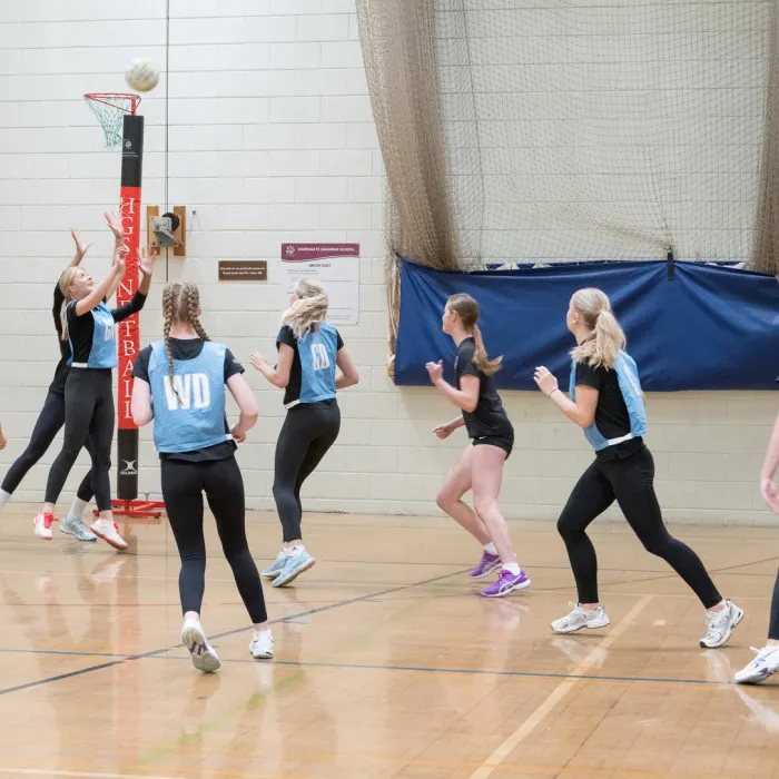
[[[204,624],[224,664],[204,677],[177,647],[165,522],[125,526],[117,554],[38,541],[22,509],[0,536],[0,779],[779,777],[779,680],[730,683],[766,634],[775,530],[676,529],[747,612],[702,651],[697,600],[624,524],[593,533],[611,625],[558,637],[574,594],[553,523],[512,523],[533,586],[487,601],[451,522],[306,516],[318,563],[266,588],[263,662],[209,522]],[[275,517],[249,539],[270,560]]]

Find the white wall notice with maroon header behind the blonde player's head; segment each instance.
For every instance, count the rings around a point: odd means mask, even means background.
[[[359,322],[359,244],[282,244],[282,310],[300,278],[324,284],[329,323]]]

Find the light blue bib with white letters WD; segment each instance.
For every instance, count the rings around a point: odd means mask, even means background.
[[[174,359],[171,384],[165,343],[151,344],[149,385],[157,452],[194,452],[229,440],[225,433],[225,348],[206,341],[194,359]]]

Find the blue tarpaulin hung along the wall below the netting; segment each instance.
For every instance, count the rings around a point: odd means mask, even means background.
[[[499,387],[534,389],[545,365],[568,384],[575,346],[565,327],[571,295],[599,287],[611,298],[628,352],[649,392],[776,389],[779,284],[771,276],[701,263],[571,263],[452,273],[403,262],[395,383],[428,384],[425,363],[453,377],[454,343],[441,331],[450,295],[467,293],[491,357],[503,355]]]

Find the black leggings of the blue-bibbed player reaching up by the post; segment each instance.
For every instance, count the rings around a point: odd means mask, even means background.
[[[65,440],[51,464],[46,502],[57,503],[81,446],[90,440],[92,489],[99,511],[111,509],[114,388],[110,368],[70,368],[65,385]]]

